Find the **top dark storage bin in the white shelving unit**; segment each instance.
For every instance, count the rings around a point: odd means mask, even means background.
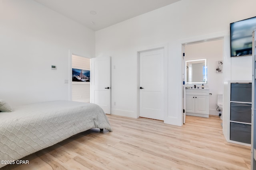
[[[252,102],[252,84],[251,83],[231,83],[230,101]]]

